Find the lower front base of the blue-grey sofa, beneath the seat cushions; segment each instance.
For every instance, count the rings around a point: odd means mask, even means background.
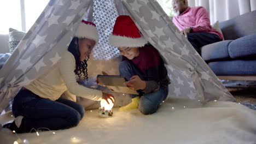
[[[216,75],[256,75],[256,60],[233,60],[208,63]]]

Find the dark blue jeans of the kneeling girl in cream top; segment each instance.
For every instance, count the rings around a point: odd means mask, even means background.
[[[84,113],[84,107],[74,101],[40,98],[27,89],[21,90],[13,101],[13,115],[24,116],[19,128],[21,133],[30,132],[32,128],[36,130],[71,128],[78,125]]]

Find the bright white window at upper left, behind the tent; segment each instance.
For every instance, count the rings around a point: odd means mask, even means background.
[[[8,34],[10,27],[27,32],[48,2],[49,0],[0,1],[0,34]]]

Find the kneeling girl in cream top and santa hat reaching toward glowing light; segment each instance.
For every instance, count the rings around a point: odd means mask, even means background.
[[[60,61],[16,95],[13,101],[15,120],[3,127],[16,133],[30,132],[33,128],[71,128],[78,125],[85,112],[82,105],[75,103],[76,95],[114,102],[113,95],[77,83],[77,80],[88,79],[86,62],[97,41],[96,25],[83,20]],[[67,99],[60,98],[62,94]]]

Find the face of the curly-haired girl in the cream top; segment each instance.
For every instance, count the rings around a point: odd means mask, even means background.
[[[94,49],[95,41],[92,39],[79,39],[79,52],[80,52],[80,61],[88,59],[91,54],[92,49]]]

